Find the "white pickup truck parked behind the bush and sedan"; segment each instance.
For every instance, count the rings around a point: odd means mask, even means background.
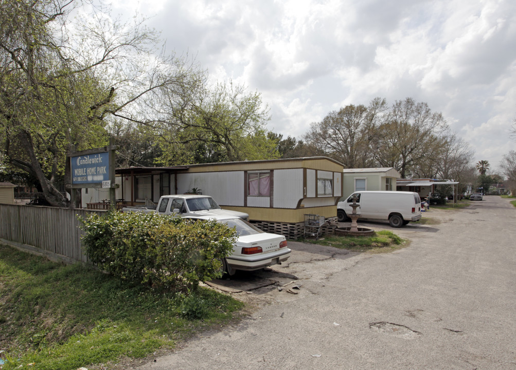
[[[244,212],[222,209],[209,195],[163,195],[154,207],[124,207],[122,212],[157,212],[160,214],[176,214],[179,217],[191,216],[235,216],[249,221]]]

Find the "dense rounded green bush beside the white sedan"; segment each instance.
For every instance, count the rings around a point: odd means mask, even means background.
[[[107,212],[83,220],[83,246],[101,270],[154,288],[189,291],[222,275],[236,233],[215,220]]]

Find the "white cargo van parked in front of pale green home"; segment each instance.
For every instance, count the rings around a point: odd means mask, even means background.
[[[337,219],[346,221],[353,212],[351,204],[357,196],[359,220],[389,221],[392,227],[401,227],[421,218],[421,199],[409,191],[357,191],[337,204]]]

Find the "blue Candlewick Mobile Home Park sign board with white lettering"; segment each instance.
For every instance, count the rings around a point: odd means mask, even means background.
[[[93,184],[109,181],[109,152],[82,155],[71,158],[72,184]]]

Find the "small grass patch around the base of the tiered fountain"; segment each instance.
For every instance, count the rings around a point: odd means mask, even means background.
[[[401,239],[389,230],[376,231],[373,236],[370,237],[326,236],[324,239],[307,239],[305,242],[361,252],[372,251],[373,253],[392,251],[407,245],[406,240]]]

